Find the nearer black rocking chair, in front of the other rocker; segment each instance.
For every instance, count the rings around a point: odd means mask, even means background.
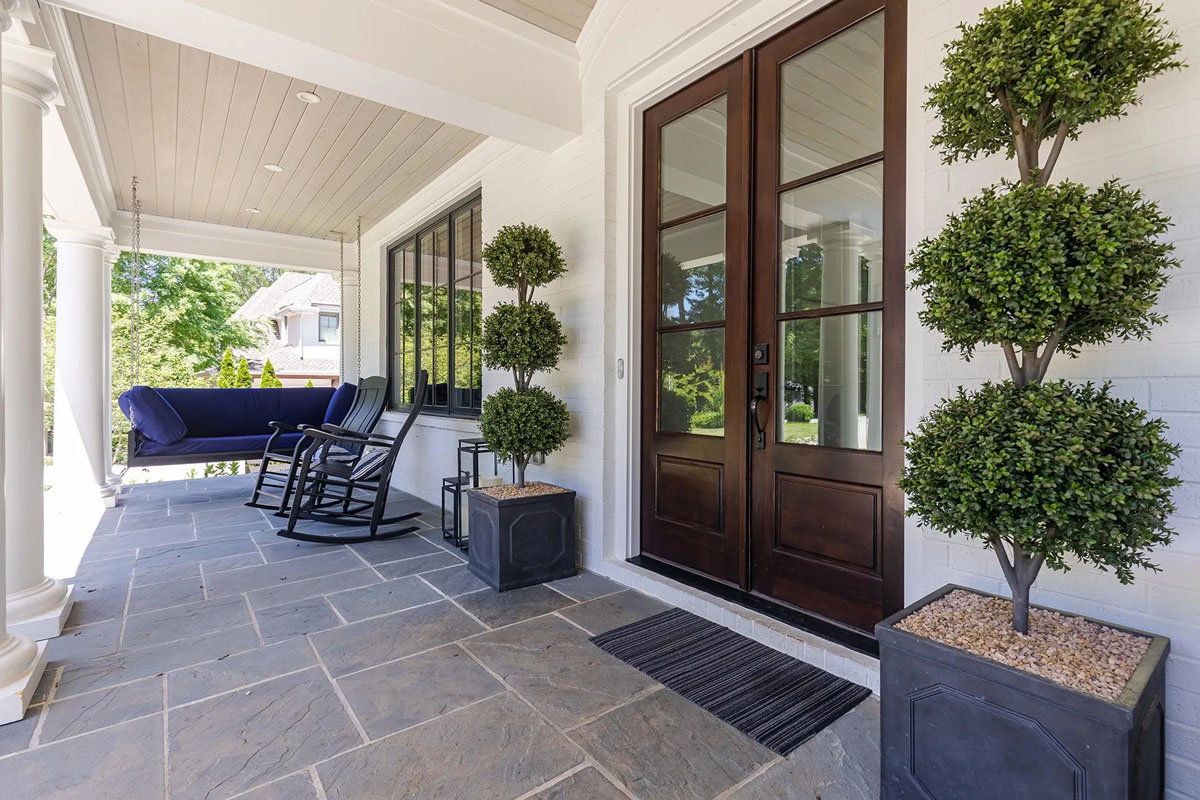
[[[276,512],[288,517],[286,529],[277,531],[284,539],[317,545],[353,545],[395,539],[416,530],[416,525],[379,533],[382,525],[394,525],[416,517],[420,512],[385,517],[391,471],[413,422],[425,405],[425,387],[428,381],[422,369],[416,378],[413,408],[395,437],[383,434],[337,433],[323,428],[306,427],[304,433],[312,438],[300,459],[296,473],[295,501],[290,510]],[[354,453],[338,457],[334,447]],[[334,456],[331,457],[331,453]],[[308,534],[296,530],[301,519],[326,522],[334,525],[368,525],[368,534],[353,536]]]

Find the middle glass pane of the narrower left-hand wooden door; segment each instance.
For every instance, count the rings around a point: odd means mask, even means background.
[[[659,253],[661,323],[725,319],[725,212],[667,228]]]

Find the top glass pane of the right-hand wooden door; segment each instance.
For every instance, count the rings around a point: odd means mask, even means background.
[[[780,65],[779,181],[883,149],[883,12]]]

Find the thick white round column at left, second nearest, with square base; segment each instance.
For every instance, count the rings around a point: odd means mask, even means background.
[[[4,242],[0,357],[4,363],[8,631],[32,639],[62,632],[72,588],[46,577],[42,409],[42,115],[58,94],[54,55],[5,42]]]

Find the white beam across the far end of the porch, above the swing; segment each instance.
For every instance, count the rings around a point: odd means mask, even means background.
[[[121,249],[130,249],[133,219],[128,211],[116,211],[113,231]],[[258,264],[284,270],[337,272],[338,245],[326,239],[310,239],[270,230],[253,230],[209,222],[174,219],[142,215],[142,249],[146,253],[199,258],[230,264]],[[354,248],[349,246],[347,263],[354,269]]]

